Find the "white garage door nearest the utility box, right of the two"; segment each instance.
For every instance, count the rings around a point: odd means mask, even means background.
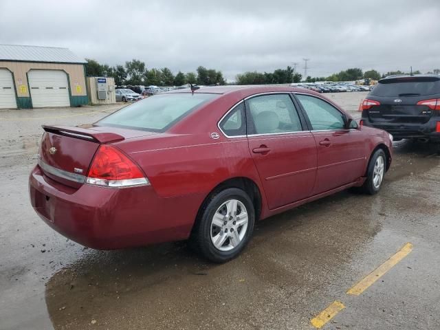
[[[67,74],[58,70],[28,72],[30,96],[34,108],[69,107]]]

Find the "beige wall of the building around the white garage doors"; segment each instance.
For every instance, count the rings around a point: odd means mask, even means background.
[[[0,62],[0,68],[10,69],[14,74],[17,96],[30,97],[26,74],[31,69],[63,70],[69,75],[72,96],[87,96],[84,65],[65,63]]]

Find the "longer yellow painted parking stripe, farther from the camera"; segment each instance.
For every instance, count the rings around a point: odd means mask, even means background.
[[[401,259],[404,259],[412,251],[412,244],[406,243],[403,248],[401,248],[396,254],[391,256],[390,259],[382,263],[373,272],[365,276],[359,283],[351,287],[347,294],[353,294],[354,296],[359,296],[364,292],[370,285],[375,283],[382,275],[384,275],[388,270],[391,270]]]

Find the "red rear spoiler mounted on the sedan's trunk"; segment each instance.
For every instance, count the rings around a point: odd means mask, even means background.
[[[118,142],[124,140],[124,137],[109,132],[94,131],[93,129],[82,129],[74,126],[48,126],[42,125],[43,129],[48,133],[75,137],[80,140],[86,140],[98,143]]]

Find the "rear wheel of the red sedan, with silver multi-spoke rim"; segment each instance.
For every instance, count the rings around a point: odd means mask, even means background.
[[[254,223],[254,205],[246,192],[227,188],[212,194],[199,212],[192,248],[214,263],[225,263],[243,251]]]

